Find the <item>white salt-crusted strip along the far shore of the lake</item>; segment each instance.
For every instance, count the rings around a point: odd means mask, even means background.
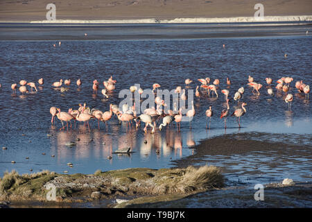
[[[214,24],[214,23],[266,23],[266,22],[312,22],[312,15],[259,17],[177,17],[175,19],[56,19],[34,21],[0,21],[0,23],[26,24]]]

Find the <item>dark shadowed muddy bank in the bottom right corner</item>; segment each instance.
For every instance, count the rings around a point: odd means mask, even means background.
[[[142,197],[116,205],[130,208],[208,208],[208,207],[312,207],[312,183],[264,186],[263,200],[254,200],[257,190],[250,187],[227,187],[188,196]]]

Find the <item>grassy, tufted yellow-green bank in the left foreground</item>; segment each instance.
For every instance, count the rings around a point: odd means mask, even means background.
[[[5,173],[0,182],[2,201],[46,202],[48,192],[55,188],[55,203],[84,203],[113,199],[117,196],[185,195],[223,187],[223,176],[217,167],[187,167],[184,169],[133,168],[116,171],[96,171],[92,175],[64,175],[43,171],[19,175]],[[48,194],[48,195],[49,195]]]

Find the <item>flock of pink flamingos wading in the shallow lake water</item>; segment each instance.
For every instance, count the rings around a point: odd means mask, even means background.
[[[196,97],[198,99],[200,99],[200,97],[202,96],[210,96],[210,92],[212,93],[211,96],[214,96],[214,94],[216,94],[216,97],[218,97],[218,87],[220,84],[220,80],[216,79],[214,80],[213,84],[209,84],[210,83],[210,78],[200,78],[198,79],[198,81],[201,83],[200,86],[196,87]],[[291,109],[291,102],[293,101],[293,94],[289,94],[288,91],[290,90],[290,84],[293,81],[293,78],[291,77],[282,77],[279,80],[277,80],[277,85],[276,85],[276,90],[277,92],[284,92],[284,96],[285,96],[285,102],[288,103],[288,108]],[[229,80],[229,78],[227,78],[226,80],[227,85],[231,85],[231,80]],[[39,85],[43,85],[44,84],[44,80],[42,78],[40,78],[40,80],[38,80]],[[60,89],[60,87],[62,86],[63,80],[61,79],[58,82],[55,82],[52,84],[53,87],[55,87],[56,89]],[[186,79],[185,80],[185,85],[186,88],[189,87],[189,85],[193,83],[193,80],[191,79]],[[271,87],[272,84],[272,78],[266,78],[266,83],[268,84],[268,94],[270,96],[274,96],[274,91]],[[71,80],[64,80],[64,85],[70,85],[71,84]],[[257,94],[259,95],[259,89],[261,89],[261,87],[263,85],[261,85],[260,83],[256,83],[254,82],[254,78],[252,76],[248,76],[248,83],[247,83],[250,87],[252,87],[252,93],[253,94]],[[31,91],[33,91],[33,89],[35,89],[35,91],[37,91],[37,87],[35,85],[35,83],[31,82],[31,83],[27,83],[26,80],[20,80],[19,81],[19,92],[21,92],[21,94],[24,94],[26,92],[28,92],[28,89],[26,88],[26,85],[28,85],[29,87],[31,87]],[[78,88],[82,87],[82,81],[80,79],[78,79],[76,81],[76,85],[78,86]],[[110,76],[110,78],[107,81],[103,82],[104,85],[104,89],[102,89],[102,94],[103,96],[105,96],[106,98],[109,98],[109,96],[106,94],[107,92],[111,92],[112,90],[115,89],[115,85],[116,85],[116,80],[114,80],[112,78],[112,76]],[[94,93],[97,94],[98,91],[98,86],[99,86],[99,82],[98,80],[94,80],[93,81],[93,85],[92,85],[92,89],[94,90]],[[1,87],[1,85],[0,85]],[[153,84],[153,93],[155,93],[155,90],[157,88],[161,87],[159,84],[155,83]],[[200,91],[198,90],[198,88],[200,87]],[[304,93],[306,95],[306,99],[309,99],[309,92],[310,92],[310,87],[309,85],[306,85],[305,83],[301,81],[297,81],[295,83],[295,87],[297,88],[297,91],[300,93]],[[17,83],[13,83],[11,85],[13,94],[16,94],[16,89],[17,89]],[[133,85],[130,87],[130,91],[131,92],[139,92],[139,94],[143,94],[144,90],[141,88],[137,88],[137,86]],[[187,95],[185,94],[186,89],[182,89],[181,86],[177,86],[175,88],[175,93],[177,93],[179,95],[179,99],[181,100],[187,100]],[[227,121],[227,117],[229,117],[229,90],[228,89],[221,89],[221,92],[224,94],[225,96],[225,102],[227,104],[227,108],[225,108],[224,110],[222,110],[222,112],[220,113],[220,119],[224,119],[224,125],[225,128],[226,126],[226,121]],[[234,100],[238,101],[240,103],[240,100],[243,99],[243,94],[244,94],[245,90],[244,87],[240,87],[237,92],[234,94]],[[67,123],[67,130],[69,128],[69,123],[70,123],[70,127],[71,127],[71,120],[74,121],[75,126],[76,126],[76,121],[81,121],[85,124],[87,124],[88,128],[89,128],[89,120],[90,119],[97,119],[98,120],[98,128],[100,128],[100,121],[103,121],[106,123],[107,121],[109,121],[112,118],[112,114],[114,114],[114,116],[118,117],[119,121],[121,122],[125,122],[127,125],[127,129],[128,129],[128,123],[129,126],[131,127],[132,124],[132,120],[135,121],[136,124],[136,128],[138,128],[140,126],[141,122],[145,123],[145,127],[144,127],[144,132],[147,133],[147,127],[150,126],[152,128],[152,132],[155,132],[155,128],[156,128],[156,122],[157,121],[162,121],[162,123],[159,125],[159,130],[162,130],[162,128],[164,126],[170,126],[173,121],[176,122],[177,124],[177,130],[180,131],[180,122],[182,121],[182,108],[177,109],[177,105],[176,103],[173,104],[173,110],[164,110],[162,109],[162,107],[165,107],[166,104],[164,103],[164,100],[162,100],[159,96],[155,97],[155,103],[156,103],[156,109],[155,107],[153,108],[147,108],[146,110],[144,110],[143,114],[140,114],[137,117],[137,113],[135,111],[135,103],[132,106],[129,106],[127,104],[124,104],[122,106],[122,110],[119,110],[119,106],[118,105],[113,105],[110,104],[110,109],[102,112],[101,110],[98,109],[91,109],[89,107],[86,107],[86,104],[79,104],[79,108],[77,110],[73,110],[73,108],[70,108],[68,110],[68,112],[62,112],[60,110],[60,108],[56,108],[56,107],[51,107],[50,108],[50,113],[52,115],[52,119],[51,119],[51,124],[54,124],[54,119],[55,116],[61,121],[62,123],[62,128],[60,128],[60,130],[63,130],[65,128],[64,126],[64,122]],[[193,101],[191,101],[192,107],[190,110],[187,110],[186,112],[186,117],[189,117],[189,126],[191,128],[191,120],[192,118],[195,116],[196,114],[196,110],[194,108],[193,105]],[[245,105],[247,105],[247,103],[242,102],[240,107],[236,110],[234,110],[234,112],[232,112],[231,116],[236,117],[236,121],[239,124],[239,128],[241,128],[241,117],[247,112]],[[214,116],[214,112],[212,110],[212,106],[209,106],[209,109],[206,110],[205,112],[206,115],[206,128],[207,128],[207,119],[209,118],[209,128],[210,128],[210,121],[211,121],[211,117]],[[89,128],[90,130],[90,128]]]

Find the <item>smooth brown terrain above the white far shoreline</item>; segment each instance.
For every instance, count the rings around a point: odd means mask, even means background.
[[[311,15],[311,0],[0,0],[1,22],[46,19],[55,3],[56,19],[174,19],[177,17],[252,17],[262,3],[264,15]]]

